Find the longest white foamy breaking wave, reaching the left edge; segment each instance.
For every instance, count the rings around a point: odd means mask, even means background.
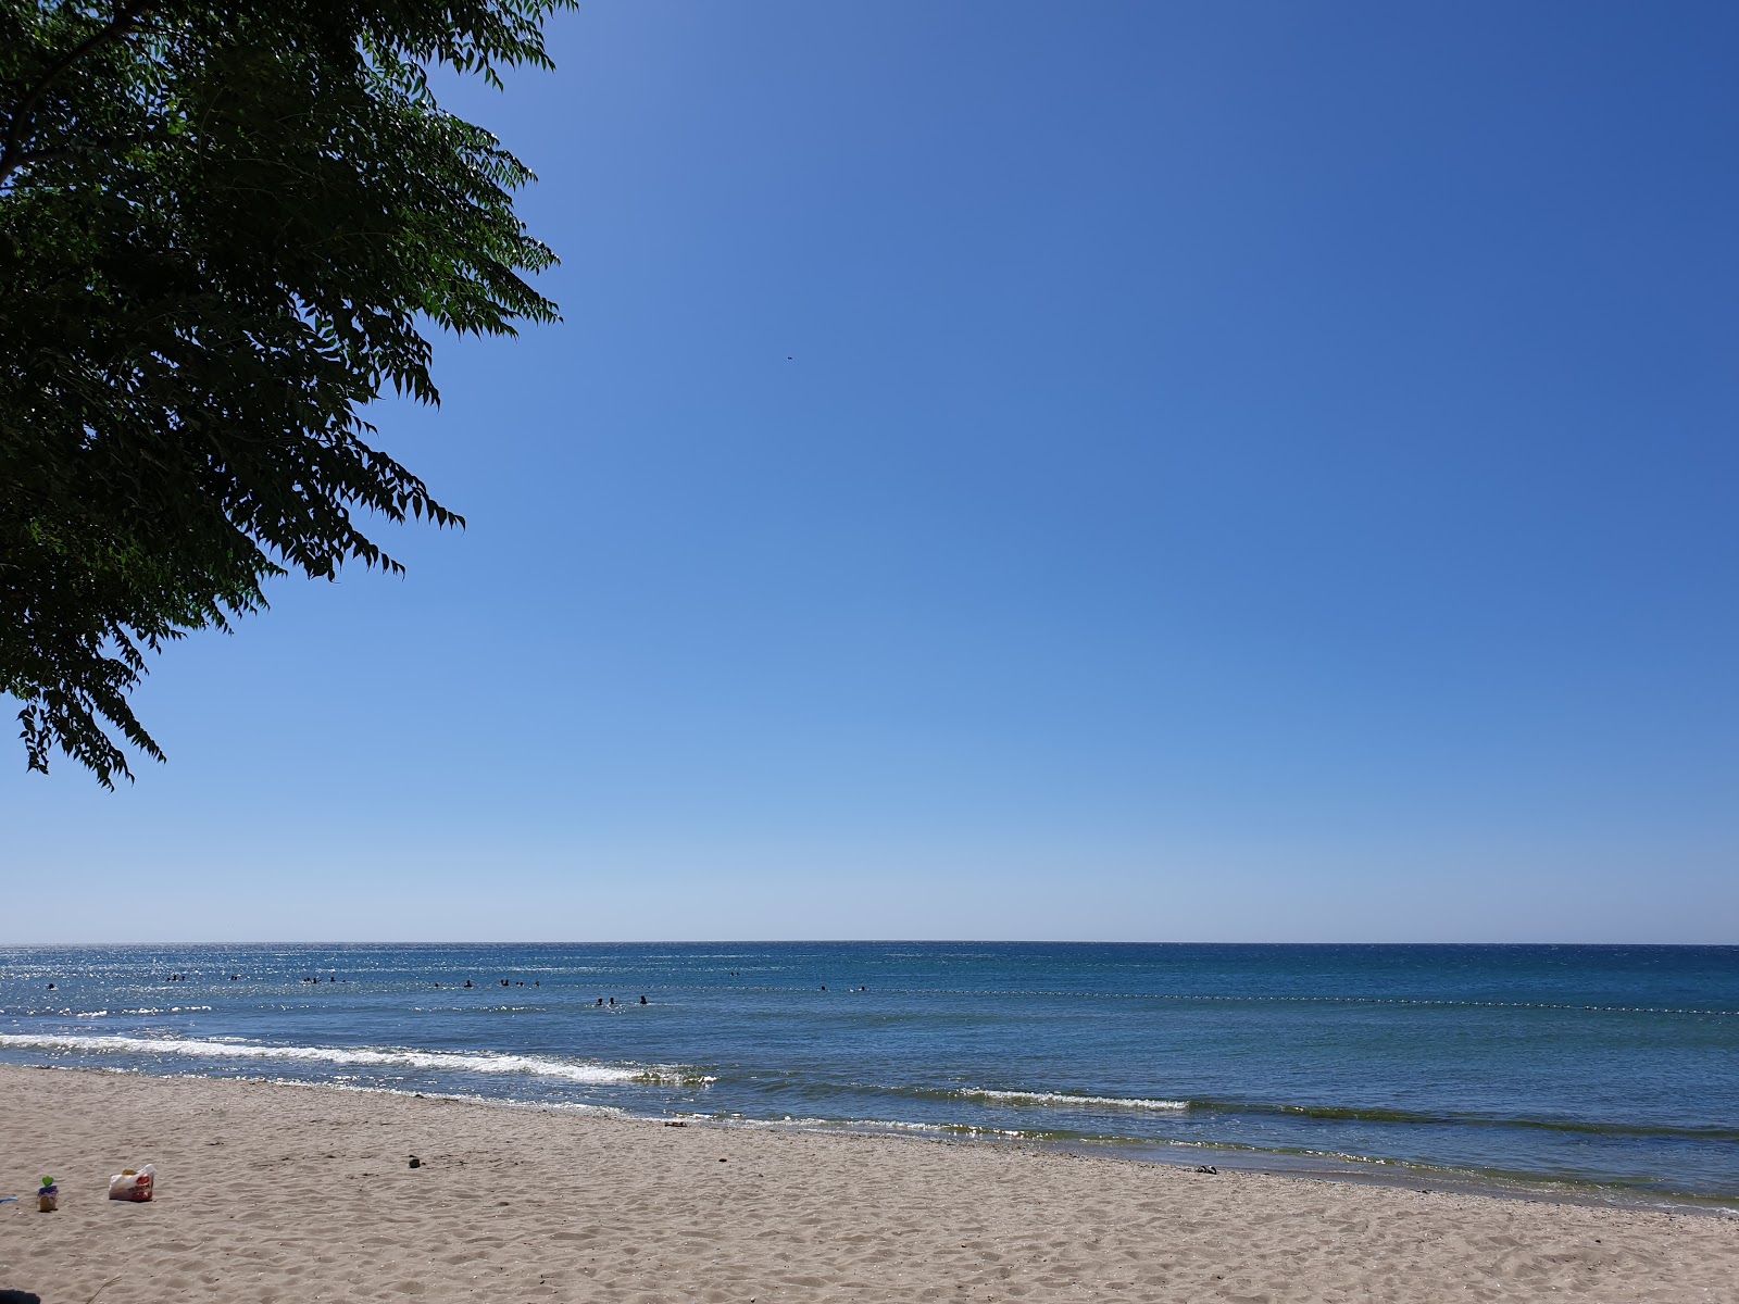
[[[565,1078],[593,1087],[612,1083],[703,1085],[713,1078],[692,1069],[666,1066],[576,1064],[541,1055],[506,1052],[410,1050],[403,1047],[275,1047],[257,1041],[209,1041],[193,1038],[150,1036],[70,1036],[0,1033],[0,1047],[21,1050],[66,1050],[120,1055],[190,1055],[198,1059],[290,1059],[323,1064],[358,1064],[396,1069],[436,1069],[459,1073],[527,1073],[541,1078]]]

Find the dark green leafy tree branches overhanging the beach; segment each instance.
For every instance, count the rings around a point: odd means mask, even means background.
[[[431,325],[551,322],[532,174],[445,66],[550,68],[572,0],[0,0],[0,692],[26,763],[162,760],[146,655],[263,582],[402,570],[363,532],[463,518],[372,447]],[[113,734],[118,734],[115,737]]]

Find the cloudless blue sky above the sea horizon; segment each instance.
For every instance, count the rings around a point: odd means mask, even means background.
[[[1739,941],[1739,7],[551,35],[470,529],[12,744],[0,941]]]

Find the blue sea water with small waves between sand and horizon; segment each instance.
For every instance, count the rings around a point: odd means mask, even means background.
[[[0,1061],[1739,1208],[1739,948],[7,948]]]

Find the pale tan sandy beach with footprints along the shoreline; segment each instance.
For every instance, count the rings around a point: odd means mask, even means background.
[[[0,1194],[42,1174],[0,1301],[1739,1299],[1730,1217],[0,1066]]]

